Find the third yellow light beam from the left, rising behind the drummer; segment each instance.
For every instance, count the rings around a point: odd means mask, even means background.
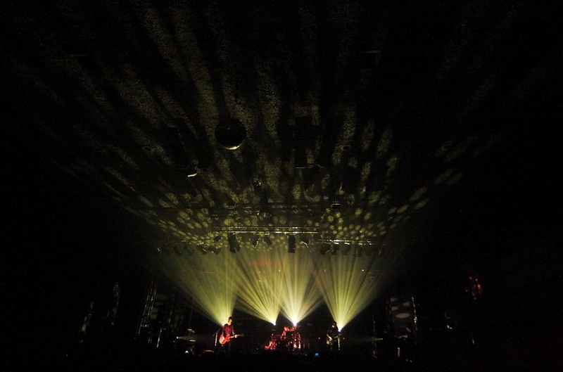
[[[315,267],[308,248],[299,245],[295,253],[277,249],[277,260],[284,274],[281,290],[281,313],[293,323],[311,314],[322,304],[322,297],[312,278]]]

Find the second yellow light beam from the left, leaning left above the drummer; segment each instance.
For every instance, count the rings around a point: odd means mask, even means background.
[[[237,307],[247,314],[276,325],[283,276],[270,249],[248,249],[237,253],[241,275]]]

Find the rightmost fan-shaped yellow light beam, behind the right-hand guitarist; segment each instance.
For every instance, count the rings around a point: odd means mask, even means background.
[[[348,255],[322,257],[317,263],[315,283],[341,330],[377,295],[379,286],[369,275],[370,259]]]

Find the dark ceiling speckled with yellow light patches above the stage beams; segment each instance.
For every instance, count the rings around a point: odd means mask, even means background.
[[[555,1],[14,3],[4,209],[37,245],[307,231],[403,275],[560,227]]]

